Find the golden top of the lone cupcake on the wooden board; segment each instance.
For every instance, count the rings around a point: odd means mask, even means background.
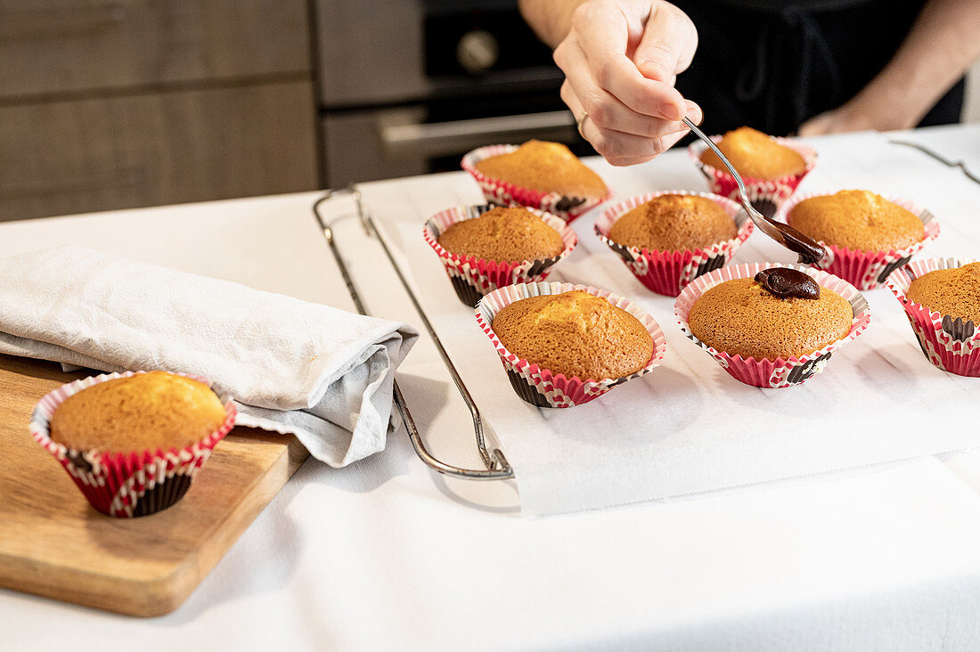
[[[224,418],[224,406],[208,385],[150,372],[69,396],[51,418],[51,439],[76,450],[166,450],[204,439]]]

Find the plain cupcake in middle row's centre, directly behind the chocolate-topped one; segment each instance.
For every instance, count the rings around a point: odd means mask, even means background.
[[[734,201],[686,190],[631,197],[606,209],[595,225],[599,239],[640,282],[667,296],[723,267],[754,228]]]

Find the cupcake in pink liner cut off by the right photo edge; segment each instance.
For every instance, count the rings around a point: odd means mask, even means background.
[[[980,376],[980,263],[925,258],[894,271],[885,284],[902,302],[925,357],[957,376]],[[927,304],[927,305],[924,305]]]

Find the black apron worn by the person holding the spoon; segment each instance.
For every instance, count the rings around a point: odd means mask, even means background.
[[[720,133],[741,125],[792,133],[835,109],[899,49],[925,0],[672,0],[698,27],[677,89]],[[919,126],[959,122],[964,81]],[[686,141],[686,140],[685,140]]]

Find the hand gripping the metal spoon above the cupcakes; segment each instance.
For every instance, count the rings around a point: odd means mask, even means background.
[[[562,99],[579,132],[614,166],[649,161],[703,119],[673,87],[698,47],[698,32],[663,0],[589,0],[575,9],[555,49]]]

